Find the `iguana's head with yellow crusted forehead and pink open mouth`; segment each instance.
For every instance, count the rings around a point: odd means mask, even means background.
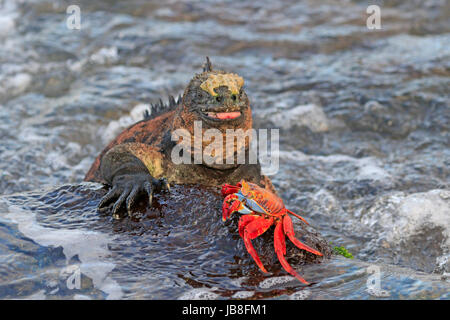
[[[244,132],[252,128],[252,113],[244,86],[244,79],[235,73],[213,70],[211,62],[206,58],[203,72],[196,74],[186,87],[181,104],[175,117],[174,129],[187,129],[194,135],[194,123],[201,121],[203,132],[207,129],[218,129],[225,134],[227,129],[242,129]],[[248,149],[249,139],[245,141]],[[204,147],[209,141],[204,141]],[[235,149],[237,149],[236,147]],[[230,150],[227,150],[230,156]],[[234,150],[234,153],[237,151]],[[230,165],[214,166],[229,168]]]

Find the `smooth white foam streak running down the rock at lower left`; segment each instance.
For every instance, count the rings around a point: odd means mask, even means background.
[[[17,223],[19,231],[38,244],[61,246],[67,261],[78,255],[81,273],[91,278],[97,289],[107,293],[107,299],[123,296],[120,285],[108,276],[115,267],[108,259],[111,254],[108,250],[108,243],[112,242],[110,237],[94,231],[43,227],[36,221],[34,212],[15,205],[8,206],[5,217]]]

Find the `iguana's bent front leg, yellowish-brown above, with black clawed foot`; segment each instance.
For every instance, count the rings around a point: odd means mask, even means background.
[[[112,188],[100,201],[98,210],[106,211],[112,206],[114,217],[119,216],[119,209],[124,203],[130,215],[131,207],[140,194],[148,195],[151,206],[153,192],[170,188],[162,177],[162,154],[143,143],[124,143],[113,147],[101,159],[100,173]]]

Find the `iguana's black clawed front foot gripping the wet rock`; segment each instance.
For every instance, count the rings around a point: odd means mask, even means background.
[[[131,207],[135,200],[145,193],[148,196],[149,207],[152,206],[153,192],[161,190],[170,191],[166,179],[155,179],[149,174],[124,174],[117,176],[113,181],[112,189],[103,197],[98,205],[99,212],[109,211],[112,207],[113,217],[119,219],[119,210],[126,205],[127,214],[131,215]],[[117,199],[116,201],[113,201]]]

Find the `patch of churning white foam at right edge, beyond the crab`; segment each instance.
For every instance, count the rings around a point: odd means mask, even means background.
[[[361,222],[378,234],[396,263],[426,272],[450,271],[450,191],[380,197]]]

